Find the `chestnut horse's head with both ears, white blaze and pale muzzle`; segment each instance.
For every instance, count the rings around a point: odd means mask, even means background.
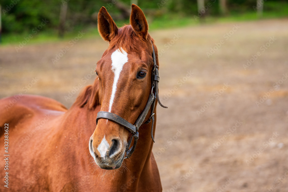
[[[129,138],[132,138],[133,132],[118,120],[123,119],[133,126],[141,115],[143,121],[149,119],[150,113],[143,115],[143,111],[147,108],[148,111],[151,106],[146,105],[153,95],[153,59],[158,64],[158,54],[155,45],[156,54],[154,53],[153,39],[148,33],[145,15],[137,5],[132,5],[130,24],[121,28],[116,26],[105,7],[102,7],[98,13],[98,31],[109,42],[108,49],[96,67],[99,104],[101,112],[117,118],[114,121],[105,118],[105,115],[99,118],[98,113],[97,126],[90,138],[89,149],[100,168],[117,169],[127,155],[126,151],[131,144]],[[156,55],[154,58],[153,54]],[[153,99],[155,105],[156,98]],[[138,128],[136,126],[136,131],[133,132],[134,140],[138,137]]]

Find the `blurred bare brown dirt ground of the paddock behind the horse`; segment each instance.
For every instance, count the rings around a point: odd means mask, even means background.
[[[153,148],[163,191],[288,191],[288,19],[150,34],[169,107],[158,105]],[[38,94],[70,107],[106,48],[85,35],[73,46],[0,47],[0,98]]]

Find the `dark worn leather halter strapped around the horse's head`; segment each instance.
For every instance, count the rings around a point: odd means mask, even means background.
[[[129,158],[132,155],[132,153],[135,151],[135,148],[137,145],[137,140],[139,139],[139,132],[138,132],[139,127],[143,124],[143,121],[144,121],[145,117],[147,116],[150,108],[151,108],[151,115],[145,123],[146,124],[150,123],[150,121],[152,119],[151,138],[152,138],[153,142],[155,142],[154,138],[153,138],[153,125],[154,125],[154,109],[155,109],[156,98],[157,98],[158,103],[160,104],[161,107],[168,108],[168,107],[162,105],[162,103],[159,100],[159,93],[158,93],[159,71],[158,71],[158,65],[156,64],[156,57],[155,57],[155,51],[154,51],[153,44],[152,44],[152,48],[153,48],[152,58],[153,58],[154,64],[153,64],[153,70],[152,70],[151,94],[149,95],[149,99],[147,101],[147,104],[146,104],[143,112],[138,117],[135,124],[132,125],[131,123],[129,123],[128,121],[126,121],[122,117],[116,115],[115,113],[110,113],[110,112],[106,112],[106,111],[99,111],[97,113],[96,124],[98,123],[98,119],[101,119],[101,118],[109,119],[111,121],[114,121],[114,122],[124,126],[134,136],[134,144],[130,149],[129,149],[129,147],[130,147],[131,142],[132,142],[132,137],[130,137],[130,139],[128,141],[128,145],[126,147],[126,157],[124,159]],[[154,93],[153,93],[153,90],[154,90]]]

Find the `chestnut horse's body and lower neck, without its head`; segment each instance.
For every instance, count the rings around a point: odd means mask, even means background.
[[[150,156],[152,143],[141,145],[139,140],[138,145],[148,149],[136,149],[135,158],[131,157],[120,171],[105,175],[106,170],[95,166],[88,142],[100,105],[95,110],[75,105],[67,110],[50,98],[24,95],[7,111],[4,106],[12,99],[0,100],[2,143],[4,124],[9,123],[8,171],[12,191],[158,191],[161,188],[157,165]],[[145,133],[145,128],[141,131],[140,137],[145,141],[149,131]],[[147,151],[145,156],[143,151]],[[1,175],[4,172],[2,168]],[[4,189],[3,185],[1,188]]]

